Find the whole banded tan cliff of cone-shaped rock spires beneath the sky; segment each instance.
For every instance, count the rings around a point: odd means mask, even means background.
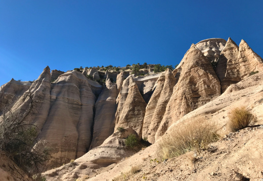
[[[217,62],[215,69],[211,62]],[[244,40],[238,47],[231,38],[227,42],[215,38],[192,44],[172,72],[167,69],[161,74],[135,77],[108,70],[102,74],[92,68],[82,73],[51,74],[47,67],[33,83],[11,80],[0,94],[5,91],[5,98],[13,102],[9,104],[13,111],[26,110],[30,87],[37,111],[28,121],[39,128],[38,139],[54,148],[47,169],[76,158],[102,168],[133,154],[124,149],[118,128],[155,143],[172,125],[200,107],[243,89],[236,83],[249,79],[251,72],[261,72],[262,65],[262,58]],[[106,80],[100,85],[87,76]],[[57,79],[53,82],[52,77]],[[67,175],[65,179],[73,177]]]

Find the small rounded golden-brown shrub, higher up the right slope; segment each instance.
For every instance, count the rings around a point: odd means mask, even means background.
[[[256,122],[256,117],[245,107],[235,108],[229,113],[228,127],[230,131],[236,132]]]

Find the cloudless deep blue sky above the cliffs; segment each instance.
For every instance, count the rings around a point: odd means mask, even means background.
[[[263,1],[0,1],[0,85],[42,70],[177,65],[192,43],[244,39],[263,56]]]

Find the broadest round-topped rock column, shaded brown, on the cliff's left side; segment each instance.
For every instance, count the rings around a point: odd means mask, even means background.
[[[49,112],[38,136],[52,147],[49,167],[67,163],[89,149],[92,139],[96,96],[91,81],[73,71],[61,75],[52,85]]]

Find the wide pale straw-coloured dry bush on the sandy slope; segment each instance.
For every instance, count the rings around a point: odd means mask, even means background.
[[[159,159],[172,158],[191,150],[205,150],[209,143],[217,141],[217,127],[204,118],[194,118],[164,135],[158,144]]]

